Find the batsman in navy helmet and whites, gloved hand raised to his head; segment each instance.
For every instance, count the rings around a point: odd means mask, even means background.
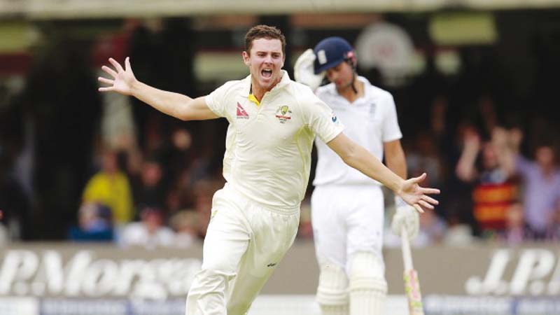
[[[318,87],[323,76],[330,84]],[[343,38],[328,37],[295,64],[298,82],[316,89],[346,125],[344,134],[406,178],[402,134],[393,97],[356,74],[356,55]],[[316,256],[320,267],[317,301],[323,315],[379,315],[387,284],[381,254],[384,198],[381,184],[345,165],[316,141],[318,162],[311,196]],[[405,225],[409,238],[419,229],[416,210],[395,197],[393,232]]]

